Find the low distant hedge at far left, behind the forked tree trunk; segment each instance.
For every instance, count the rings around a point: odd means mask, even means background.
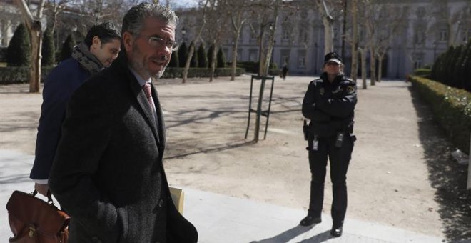
[[[41,82],[54,69],[53,67],[41,68]],[[0,84],[21,84],[29,82],[28,66],[6,66],[0,67]]]

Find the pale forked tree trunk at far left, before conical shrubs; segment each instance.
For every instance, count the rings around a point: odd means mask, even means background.
[[[26,26],[31,36],[31,69],[29,71],[29,92],[39,93],[41,89],[41,47],[42,47],[42,25],[44,0],[40,0],[36,9],[36,18],[29,11],[24,0],[15,0],[21,9],[21,13],[26,21]]]

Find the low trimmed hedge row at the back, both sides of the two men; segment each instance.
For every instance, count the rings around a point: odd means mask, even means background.
[[[46,76],[54,67],[41,68],[41,82],[46,79]],[[215,76],[231,76],[231,68],[216,69]],[[168,67],[163,73],[163,79],[181,78],[183,68]],[[245,73],[245,69],[236,69],[236,76]],[[188,78],[210,76],[211,69],[204,68],[191,68],[188,69]],[[26,66],[8,66],[0,67],[0,84],[21,84],[29,81],[29,67]]]

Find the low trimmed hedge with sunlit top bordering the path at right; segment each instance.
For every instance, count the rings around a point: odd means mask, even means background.
[[[471,93],[419,76],[409,76],[412,86],[432,107],[435,120],[455,146],[470,153]]]

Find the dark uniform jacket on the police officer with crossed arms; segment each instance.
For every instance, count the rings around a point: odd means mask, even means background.
[[[339,75],[330,83],[326,73],[311,81],[303,99],[303,116],[310,119],[310,134],[331,137],[337,132],[353,132],[355,104],[355,81]]]

